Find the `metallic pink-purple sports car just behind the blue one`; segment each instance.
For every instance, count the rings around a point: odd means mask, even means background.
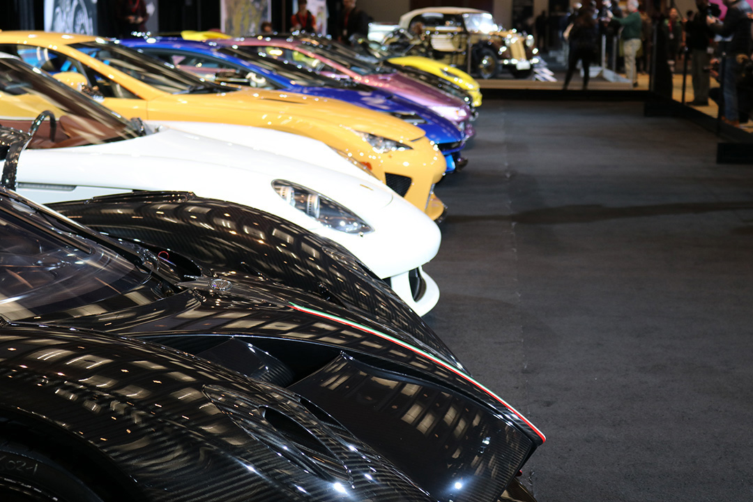
[[[383,68],[370,59],[358,56],[358,53],[348,53],[344,46],[335,52],[331,50],[332,47],[325,47],[321,41],[294,37],[219,39],[215,43],[237,47],[251,53],[263,53],[328,77],[349,79],[386,90],[430,108],[456,124],[465,132],[466,138],[471,138],[475,134],[475,115],[465,101],[437,87],[410,78],[394,68]]]

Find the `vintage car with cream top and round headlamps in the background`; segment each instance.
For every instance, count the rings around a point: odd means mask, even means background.
[[[481,78],[494,78],[503,68],[516,78],[526,78],[539,62],[532,35],[503,29],[486,11],[459,7],[417,9],[403,14],[399,27],[423,38],[434,59]]]

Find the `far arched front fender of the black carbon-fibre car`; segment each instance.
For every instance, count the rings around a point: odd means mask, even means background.
[[[227,278],[283,284],[403,331],[456,360],[419,315],[349,251],[273,214],[193,193],[136,192],[50,208],[171,260],[182,256]]]

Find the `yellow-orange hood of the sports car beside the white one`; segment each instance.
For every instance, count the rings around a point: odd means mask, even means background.
[[[343,129],[367,131],[396,141],[408,142],[422,138],[424,132],[416,126],[394,117],[385,117],[377,111],[367,110],[346,102],[299,93],[270,90],[239,89],[219,94],[175,94],[160,96],[148,103],[151,120],[159,120],[156,114],[162,104],[178,103],[187,108],[205,108],[212,114],[218,111],[233,114],[269,116],[271,121],[312,121],[331,123]],[[266,118],[266,117],[264,117]]]

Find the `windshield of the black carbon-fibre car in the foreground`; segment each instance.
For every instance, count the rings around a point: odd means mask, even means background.
[[[136,305],[160,297],[162,281],[148,260],[137,266],[76,228],[0,190],[0,317],[78,317],[101,312],[93,304],[123,294]]]

